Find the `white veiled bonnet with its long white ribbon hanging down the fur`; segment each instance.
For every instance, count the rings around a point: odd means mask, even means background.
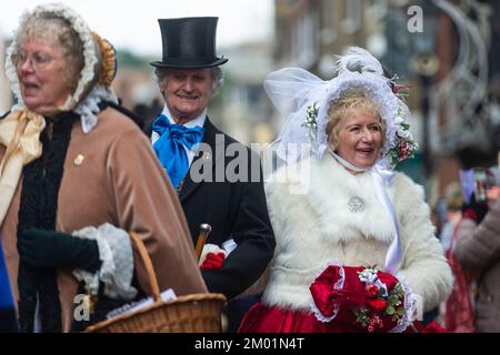
[[[339,55],[334,68],[336,77],[323,81],[307,70],[284,68],[272,72],[264,81],[264,89],[277,109],[287,116],[287,121],[278,139],[271,145],[283,158],[286,163],[301,160],[304,151],[292,150],[293,144],[310,144],[311,153],[321,160],[329,150],[326,128],[329,122],[328,111],[333,101],[362,91],[377,104],[386,125],[386,136],[381,156],[369,169],[378,199],[390,214],[394,226],[394,239],[386,255],[384,271],[396,274],[402,261],[402,244],[399,223],[387,186],[393,178],[392,169],[398,162],[410,158],[418,149],[409,131],[410,111],[402,100],[393,78],[387,78],[380,62],[367,50],[351,47],[344,55]],[[362,172],[332,152],[337,161],[352,171]]]

